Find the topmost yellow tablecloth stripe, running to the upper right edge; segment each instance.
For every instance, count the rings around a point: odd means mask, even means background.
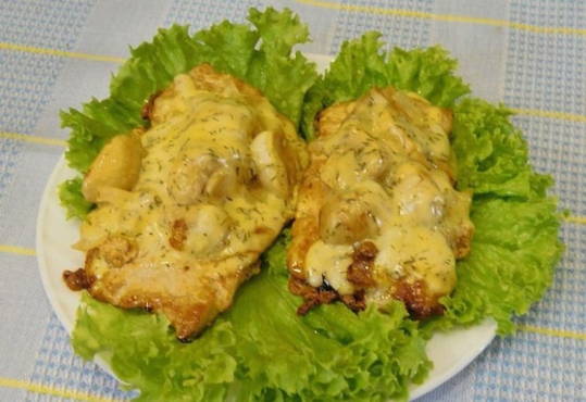
[[[296,1],[301,4],[308,4],[308,5],[319,7],[322,9],[331,9],[331,10],[353,11],[353,12],[361,12],[361,13],[369,13],[369,14],[445,21],[445,22],[452,22],[452,23],[501,26],[501,27],[508,27],[508,28],[520,29],[520,30],[528,30],[528,32],[537,33],[537,34],[563,34],[563,35],[586,36],[586,29],[583,29],[583,28],[570,28],[570,27],[564,27],[564,26],[561,26],[561,27],[539,26],[539,25],[515,23],[515,22],[507,21],[507,20],[482,18],[482,17],[475,17],[475,16],[456,15],[456,14],[434,14],[434,13],[427,13],[424,11],[413,11],[413,10],[406,10],[406,9],[390,9],[390,8],[370,7],[370,5],[340,4],[340,3],[336,3],[332,1],[319,1],[319,0],[296,0]]]

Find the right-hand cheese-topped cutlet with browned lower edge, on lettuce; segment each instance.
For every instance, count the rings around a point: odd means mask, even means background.
[[[474,231],[450,130],[448,110],[392,88],[321,113],[287,255],[306,305],[334,290],[354,310],[395,298],[419,317],[441,311]]]

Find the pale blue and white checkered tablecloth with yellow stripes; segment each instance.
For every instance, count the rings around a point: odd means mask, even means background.
[[[334,54],[376,29],[391,45],[440,43],[475,95],[503,101],[571,216],[554,285],[521,330],[496,339],[421,401],[586,401],[586,2],[582,0],[0,0],[0,401],[133,394],[75,356],[35,257],[40,196],[67,133],[58,112],[107,96],[128,45],[173,23],[242,21],[288,7],[311,28],[302,50]]]

